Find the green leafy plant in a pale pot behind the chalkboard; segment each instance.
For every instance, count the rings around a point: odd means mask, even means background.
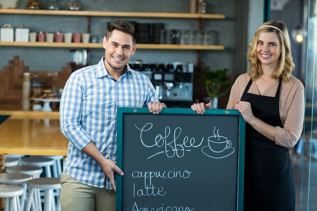
[[[224,96],[230,90],[230,80],[226,75],[227,71],[228,69],[224,68],[205,72],[203,81],[205,82],[209,102],[212,103],[213,108],[218,108],[218,98]],[[223,89],[220,90],[220,88]]]

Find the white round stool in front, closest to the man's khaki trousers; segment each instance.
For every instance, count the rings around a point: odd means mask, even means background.
[[[57,203],[55,204],[55,198],[53,194],[54,189],[60,189],[60,179],[54,177],[41,177],[32,179],[27,182],[28,196],[25,204],[25,211],[29,211],[31,208],[31,202],[33,200],[33,194],[35,189],[44,189],[44,211],[60,211],[60,196],[58,196]]]

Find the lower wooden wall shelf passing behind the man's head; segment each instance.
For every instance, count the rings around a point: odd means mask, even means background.
[[[11,47],[49,47],[49,48],[100,48],[101,43],[48,43],[48,42],[16,42],[0,41],[0,46]],[[137,44],[137,49],[166,49],[166,50],[224,50],[224,46],[205,45],[169,45],[169,44]]]

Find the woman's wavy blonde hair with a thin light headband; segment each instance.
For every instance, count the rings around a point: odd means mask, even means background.
[[[263,74],[261,62],[256,53],[258,38],[262,32],[275,32],[281,43],[282,52],[279,58],[279,64],[273,71],[272,77],[282,77],[285,82],[289,81],[295,68],[295,64],[293,63],[292,58],[289,33],[282,21],[267,21],[258,27],[254,37],[250,41],[249,53],[247,54],[250,63],[249,76],[254,80]]]

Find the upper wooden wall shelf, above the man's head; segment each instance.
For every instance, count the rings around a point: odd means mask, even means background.
[[[0,9],[0,14],[224,19],[223,14]]]

